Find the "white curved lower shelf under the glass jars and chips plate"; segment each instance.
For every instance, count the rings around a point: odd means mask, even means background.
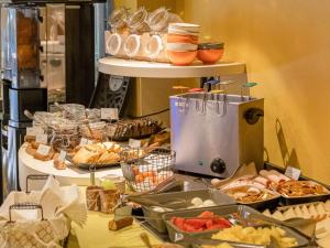
[[[24,143],[19,151],[19,171],[20,186],[22,191],[26,190],[26,176],[31,174],[50,174],[54,175],[61,185],[77,184],[80,186],[90,185],[90,173],[88,170],[81,170],[73,165],[68,165],[65,170],[57,170],[53,165],[53,160],[40,161],[28,154],[25,151],[28,143]],[[96,179],[100,179],[107,174],[122,175],[120,168],[97,170]],[[31,182],[29,190],[40,190],[44,182]]]

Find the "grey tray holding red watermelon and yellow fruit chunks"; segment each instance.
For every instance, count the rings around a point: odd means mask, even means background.
[[[205,207],[205,208],[200,208],[200,209],[187,209],[187,211],[178,211],[178,212],[174,212],[174,213],[167,213],[165,215],[163,215],[163,218],[166,223],[166,227],[168,230],[168,237],[170,239],[170,241],[177,241],[177,236],[193,236],[196,238],[211,238],[212,234],[219,231],[219,230],[206,230],[206,231],[196,231],[196,233],[187,233],[184,230],[178,229],[174,224],[170,223],[170,218],[172,217],[196,217],[199,214],[201,214],[205,211],[210,211],[213,212],[217,215],[230,215],[233,213],[239,213],[240,216],[244,217],[252,217],[255,219],[261,219],[261,220],[265,220],[268,223],[274,223],[274,225],[279,225],[283,229],[285,229],[288,233],[288,236],[290,237],[295,237],[298,241],[298,246],[307,246],[308,245],[308,240],[300,236],[299,234],[297,234],[296,231],[292,230],[290,228],[284,227],[282,226],[276,219],[274,218],[270,218],[267,216],[264,216],[263,214],[258,213],[257,211],[249,207],[249,206],[243,206],[243,205],[232,205],[232,206],[218,206],[218,207]]]

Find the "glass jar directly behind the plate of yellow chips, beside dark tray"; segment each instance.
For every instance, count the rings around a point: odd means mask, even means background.
[[[94,122],[89,125],[80,125],[80,134],[82,138],[96,142],[107,141],[106,126],[107,123],[105,121]]]

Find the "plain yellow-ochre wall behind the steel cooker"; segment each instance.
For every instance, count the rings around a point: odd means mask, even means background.
[[[185,21],[260,83],[270,161],[330,184],[330,1],[186,0]]]

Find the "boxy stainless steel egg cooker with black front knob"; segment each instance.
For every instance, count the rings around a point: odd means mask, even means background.
[[[169,100],[177,170],[229,177],[244,163],[263,166],[263,98],[187,93]]]

